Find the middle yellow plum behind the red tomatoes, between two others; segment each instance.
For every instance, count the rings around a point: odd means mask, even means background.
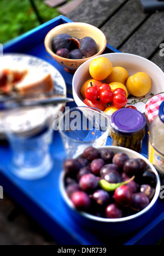
[[[128,77],[129,74],[124,67],[113,67],[112,73],[106,78],[106,83],[119,82],[125,85]]]

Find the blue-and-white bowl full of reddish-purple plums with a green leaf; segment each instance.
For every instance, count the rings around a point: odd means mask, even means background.
[[[64,162],[60,191],[67,211],[83,228],[121,236],[147,224],[160,178],[149,160],[131,149],[87,147]]]

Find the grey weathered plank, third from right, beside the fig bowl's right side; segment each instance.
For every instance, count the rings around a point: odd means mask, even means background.
[[[147,16],[136,0],[130,0],[101,27],[101,30],[106,35],[108,44],[119,49]]]

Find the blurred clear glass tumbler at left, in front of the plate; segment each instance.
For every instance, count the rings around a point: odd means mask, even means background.
[[[52,118],[45,109],[21,109],[5,117],[11,147],[9,169],[23,179],[38,179],[51,171],[49,146],[52,141]]]

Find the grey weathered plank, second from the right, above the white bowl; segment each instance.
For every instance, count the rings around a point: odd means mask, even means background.
[[[164,41],[164,12],[152,14],[120,48],[124,53],[149,59]]]

